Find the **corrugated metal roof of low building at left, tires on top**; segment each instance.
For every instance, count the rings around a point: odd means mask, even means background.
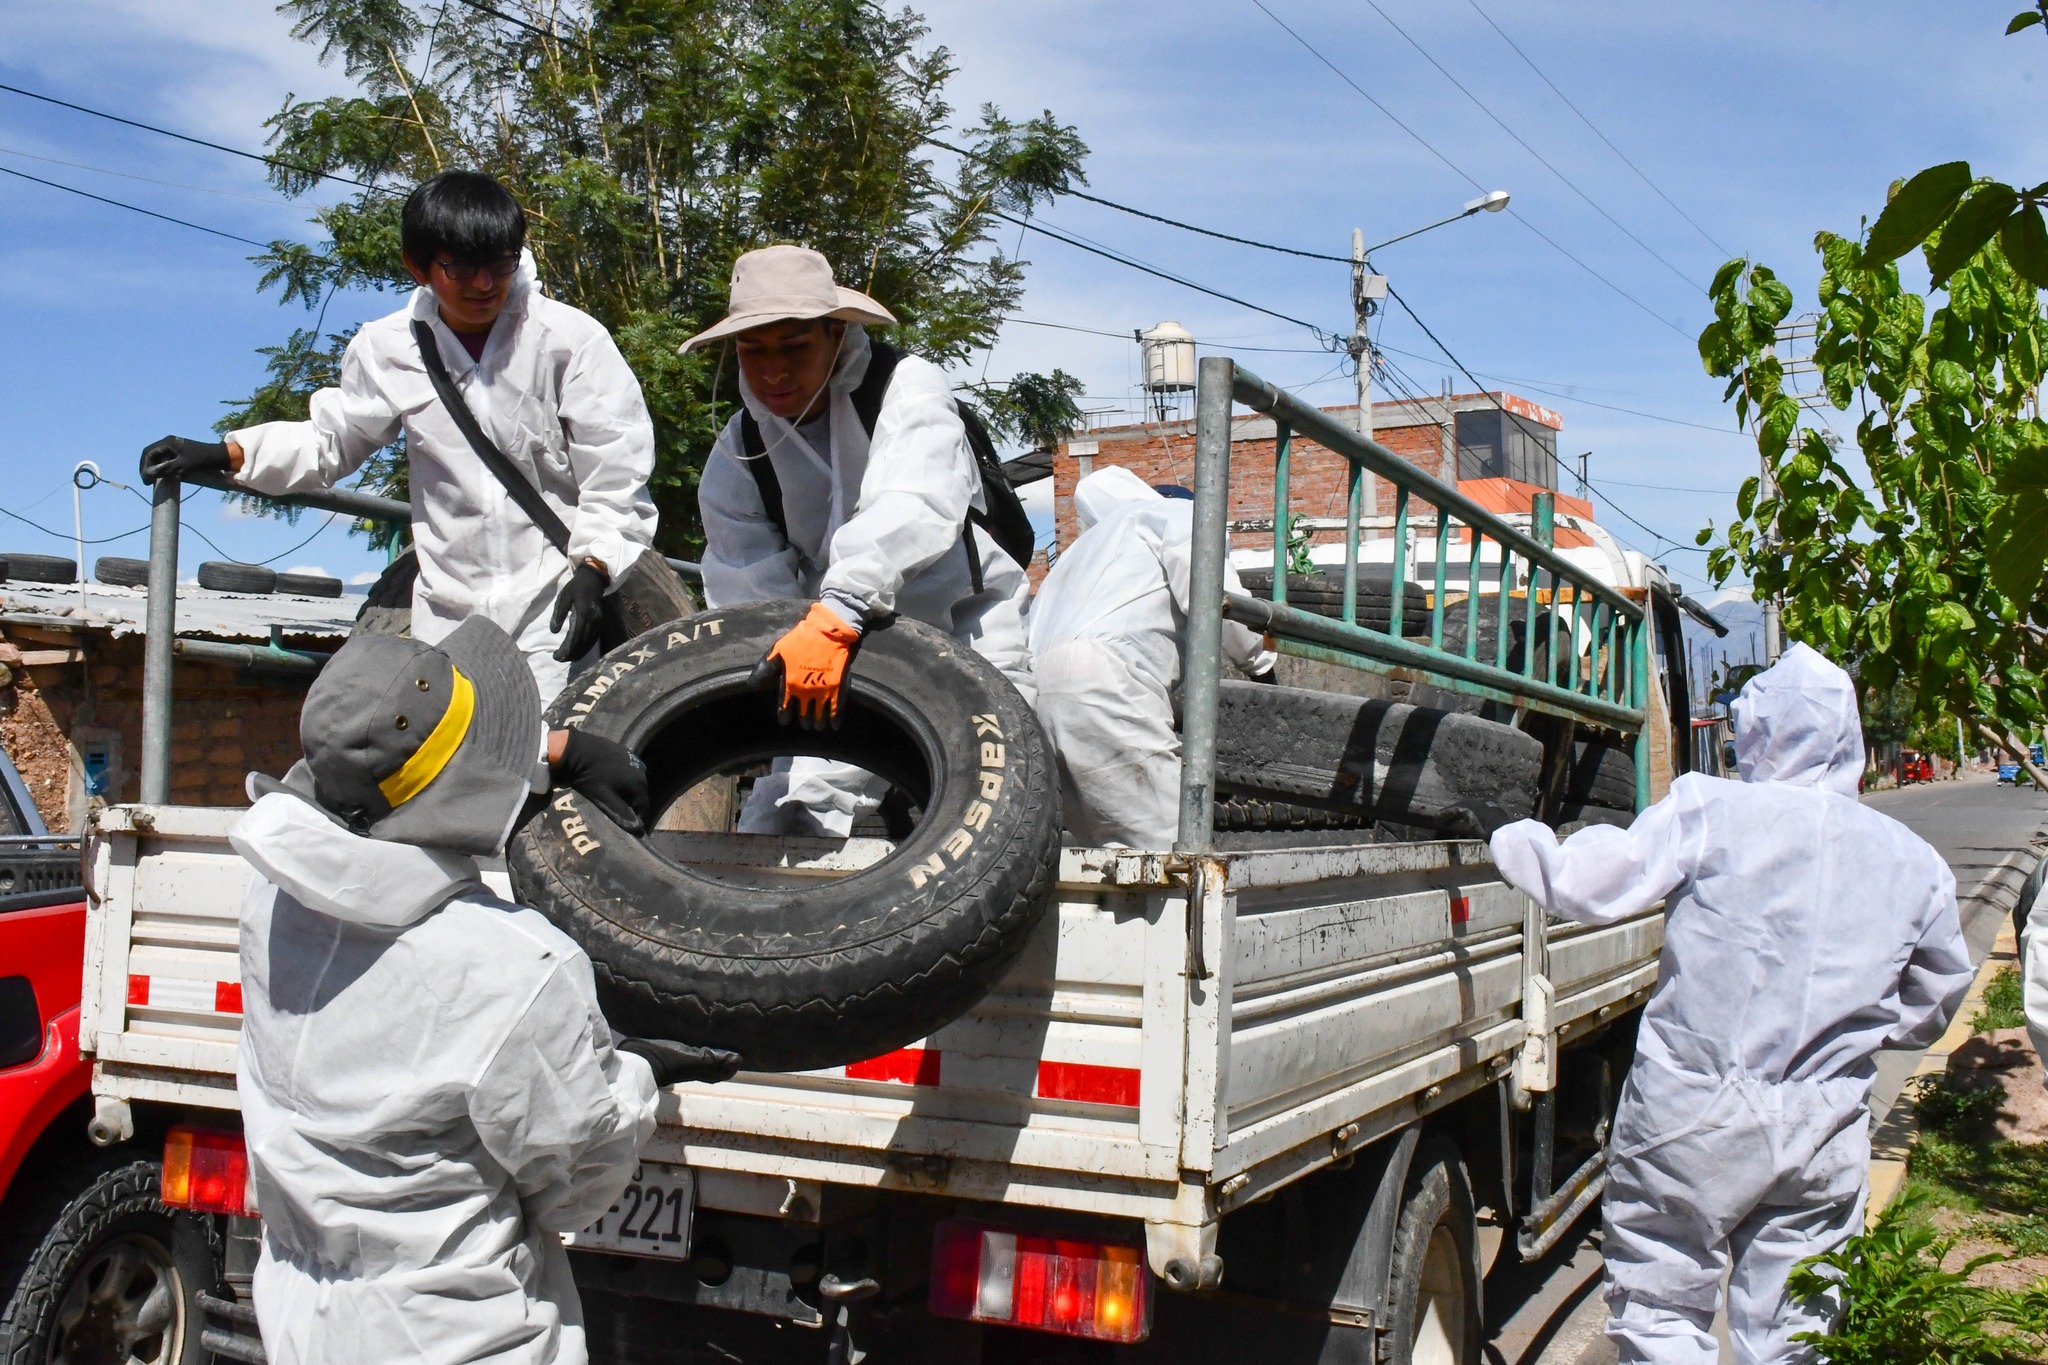
[[[342,639],[362,610],[360,593],[340,598],[289,598],[285,593],[227,593],[178,583],[178,634],[217,641],[268,641],[270,626],[285,634]],[[0,583],[0,622],[68,626],[141,634],[150,593],[139,587],[86,583]]]

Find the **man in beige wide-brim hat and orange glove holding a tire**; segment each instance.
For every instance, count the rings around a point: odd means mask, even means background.
[[[821,254],[770,246],[733,262],[725,319],[684,344],[727,342],[743,401],[698,485],[705,600],[813,602],[768,655],[809,724],[831,720],[860,630],[891,612],[969,645],[1030,696],[1030,581],[969,520],[987,497],[946,375],[868,338],[893,321]],[[786,792],[782,778],[756,784],[743,831],[844,837],[879,798],[844,765],[797,759]]]

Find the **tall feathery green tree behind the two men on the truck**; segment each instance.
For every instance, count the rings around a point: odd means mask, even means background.
[[[598,317],[641,379],[655,424],[653,495],[668,553],[700,544],[696,479],[737,401],[727,350],[678,356],[725,311],[731,262],[772,241],[821,250],[903,321],[895,340],[940,364],[993,344],[1024,262],[993,246],[997,211],[1028,215],[1083,182],[1085,147],[1051,113],[993,106],[954,133],[952,178],[930,162],[952,111],[944,47],[909,10],[860,0],[287,0],[293,35],[356,94],[291,98],[270,119],[272,182],[305,194],[358,182],[276,241],[262,289],[324,309],[338,289],[412,289],[399,260],[406,190],[483,170],[526,205],[545,289]],[[303,417],[346,332],[295,327],[266,381],[221,428]],[[1057,440],[1073,377],[1018,375],[971,395],[1001,436]],[[403,495],[403,450],[365,475]]]

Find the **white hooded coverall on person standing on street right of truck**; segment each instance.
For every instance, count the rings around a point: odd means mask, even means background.
[[[1550,913],[1667,905],[1663,962],[1610,1140],[1608,1334],[1620,1359],[1712,1365],[1720,1275],[1737,1361],[1810,1361],[1786,1273],[1864,1224],[1880,1048],[1942,1036],[1970,984],[1956,880],[1855,800],[1849,675],[1804,645],[1733,706],[1743,782],[1686,774],[1628,829],[1493,835]]]

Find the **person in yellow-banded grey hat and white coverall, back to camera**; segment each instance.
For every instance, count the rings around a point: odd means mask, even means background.
[[[256,868],[236,1087],[264,1351],[580,1365],[559,1234],[633,1179],[657,1085],[737,1058],[616,1038],[584,952],[485,890],[477,860],[545,786],[541,698],[504,630],[350,641],[299,739],[229,833]]]

